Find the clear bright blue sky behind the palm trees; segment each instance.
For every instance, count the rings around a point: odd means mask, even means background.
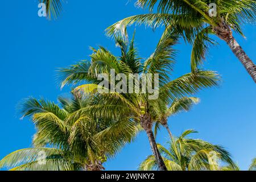
[[[38,16],[38,1],[3,1],[0,11],[0,68],[1,119],[0,158],[20,148],[31,147],[34,125],[28,119],[19,120],[16,104],[28,96],[43,96],[56,101],[57,96],[69,92],[56,84],[56,69],[88,59],[89,46],[105,46],[116,55],[119,50],[106,38],[105,28],[127,16],[147,13],[137,9],[134,1],[64,1],[59,19],[48,21]],[[129,30],[133,31],[134,27]],[[162,30],[137,27],[136,45],[142,57],[154,51]],[[245,26],[246,39],[235,35],[252,60],[256,61],[256,26]],[[216,38],[217,39],[217,38]],[[218,40],[218,39],[217,39]],[[207,89],[197,96],[201,103],[189,113],[170,118],[175,135],[195,129],[201,138],[225,146],[241,169],[248,169],[256,157],[256,86],[225,43],[210,50],[205,69],[218,71],[222,76],[219,88]],[[191,47],[180,42],[179,55],[173,77],[189,72]],[[166,143],[166,131],[158,135],[159,143]],[[106,164],[106,169],[135,170],[150,155],[145,134],[139,134]]]

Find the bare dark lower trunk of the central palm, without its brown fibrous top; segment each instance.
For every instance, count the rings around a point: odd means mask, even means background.
[[[166,164],[164,164],[163,158],[160,155],[158,150],[158,146],[155,142],[155,137],[152,130],[146,130],[148,140],[150,142],[151,150],[155,156],[156,163],[158,163],[158,167],[161,171],[167,171]]]

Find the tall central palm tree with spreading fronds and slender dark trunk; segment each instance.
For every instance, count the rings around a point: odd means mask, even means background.
[[[134,48],[134,36],[130,43],[117,37],[115,41],[121,48],[121,56],[114,56],[104,47],[100,47],[98,50],[92,48],[93,54],[90,55],[90,61],[81,61],[69,68],[60,69],[61,87],[67,84],[76,85],[85,81],[85,85],[78,86],[73,90],[76,96],[81,97],[82,93],[97,94],[97,104],[82,108],[81,112],[94,113],[99,117],[114,119],[116,119],[115,117],[128,118],[131,121],[138,122],[146,131],[151,150],[159,168],[162,170],[166,170],[166,166],[156,147],[155,137],[152,133],[156,108],[163,104],[168,105],[168,103],[187,94],[195,94],[201,89],[216,86],[219,80],[215,72],[201,70],[171,80],[169,75],[175,55],[172,46],[177,43],[177,39],[178,35],[175,32],[164,31],[155,51],[148,59],[143,61],[137,57],[137,50]],[[115,73],[112,72],[113,70]],[[126,78],[129,77],[129,74],[139,74],[138,80],[131,82],[139,90],[142,90],[139,83],[144,78],[143,74],[153,74],[151,80],[155,80],[154,74],[159,74],[159,81],[157,81],[159,97],[150,100],[151,93],[149,92],[119,93],[115,90],[109,90],[107,86],[102,86],[98,81],[97,77],[100,73],[106,73],[108,77],[124,73]],[[152,82],[152,85],[156,84],[156,81]],[[108,93],[98,93],[98,88],[103,88]]]

